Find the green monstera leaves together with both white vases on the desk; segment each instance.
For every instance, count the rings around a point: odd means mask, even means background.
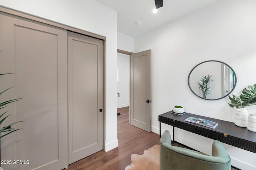
[[[256,113],[250,113],[248,116],[247,106],[256,105],[256,84],[247,86],[242,90],[242,94],[238,97],[234,94],[228,96],[230,107],[235,109],[235,124],[240,127],[248,127],[250,131],[256,132]]]

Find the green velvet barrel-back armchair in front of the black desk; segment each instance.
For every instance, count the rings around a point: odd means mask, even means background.
[[[160,138],[160,170],[231,170],[231,159],[220,141],[212,144],[212,156],[172,146],[169,131]]]

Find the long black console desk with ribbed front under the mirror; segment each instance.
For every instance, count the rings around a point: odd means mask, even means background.
[[[188,117],[197,117],[201,119],[207,119],[218,123],[215,129],[197,125],[184,121]],[[160,137],[161,137],[161,123],[165,123],[173,126],[173,138],[174,127],[190,131],[210,139],[218,140],[220,142],[238,147],[250,152],[256,153],[256,133],[249,131],[246,127],[238,127],[233,122],[223,121],[219,119],[213,119],[201,115],[195,115],[191,113],[185,113],[184,115],[176,115],[169,112],[158,115],[158,121],[160,122]],[[174,139],[173,139],[174,141]]]

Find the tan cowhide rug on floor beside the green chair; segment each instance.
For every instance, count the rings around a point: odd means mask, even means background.
[[[126,166],[125,170],[159,170],[159,145],[154,145],[144,154],[132,154],[132,164]]]

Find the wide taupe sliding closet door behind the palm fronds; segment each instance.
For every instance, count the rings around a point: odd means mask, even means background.
[[[22,98],[4,108],[8,123],[23,128],[1,139],[5,170],[60,170],[68,164],[66,31],[0,13],[1,100]],[[2,111],[4,111],[1,110]],[[22,160],[14,164],[14,160]]]

